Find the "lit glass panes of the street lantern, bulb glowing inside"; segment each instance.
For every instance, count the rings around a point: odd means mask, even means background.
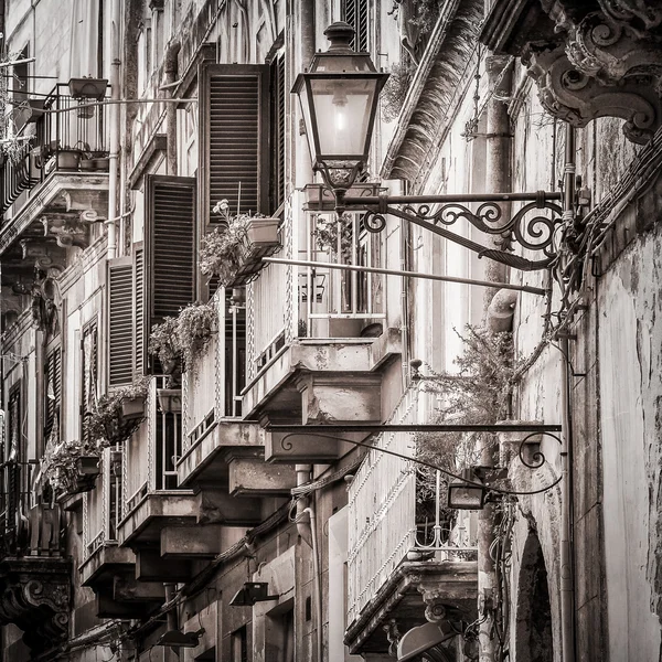
[[[366,152],[375,78],[318,78],[310,81],[319,129],[319,149],[324,158],[362,158]]]

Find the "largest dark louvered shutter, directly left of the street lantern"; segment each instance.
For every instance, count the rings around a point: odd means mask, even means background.
[[[201,68],[200,191],[204,225],[222,222],[211,209],[223,199],[229,202],[233,214],[237,204],[242,213],[268,213],[268,65],[205,64]]]

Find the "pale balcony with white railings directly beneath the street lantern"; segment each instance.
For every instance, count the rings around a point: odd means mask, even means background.
[[[327,211],[323,190],[311,191],[308,202],[297,192],[292,205],[286,205],[278,257],[322,265],[387,264],[381,238],[366,232],[361,214],[339,225]],[[313,194],[320,200],[313,201]],[[295,213],[302,206],[302,213]],[[375,406],[381,370],[399,353],[399,298],[389,302],[388,314],[387,298],[383,276],[267,266],[246,292],[245,415],[271,423],[381,419]]]

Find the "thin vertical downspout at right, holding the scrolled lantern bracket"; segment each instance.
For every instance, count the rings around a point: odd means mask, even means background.
[[[575,129],[566,125],[564,210],[566,224],[575,221]],[[575,573],[573,563],[573,420],[572,395],[568,387],[569,343],[567,335],[560,342],[560,405],[563,452],[560,453],[560,640],[563,662],[575,662]]]

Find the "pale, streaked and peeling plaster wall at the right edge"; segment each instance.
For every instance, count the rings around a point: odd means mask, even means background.
[[[660,652],[662,231],[621,256],[599,290],[600,427],[610,659]],[[650,536],[650,537],[649,537]],[[651,586],[652,585],[652,586]]]

